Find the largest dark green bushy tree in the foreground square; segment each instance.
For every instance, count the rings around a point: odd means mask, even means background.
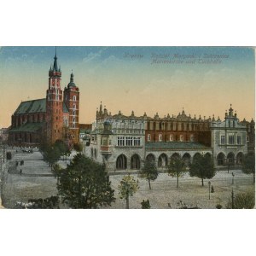
[[[105,165],[76,154],[66,169],[55,167],[58,195],[75,209],[110,206],[115,198]]]

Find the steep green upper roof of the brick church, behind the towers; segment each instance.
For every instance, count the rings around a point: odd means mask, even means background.
[[[46,99],[32,100],[20,102],[20,106],[16,109],[15,114],[21,113],[44,113],[46,112]],[[63,113],[69,113],[66,104],[63,102]]]

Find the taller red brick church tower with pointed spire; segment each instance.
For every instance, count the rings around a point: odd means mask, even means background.
[[[63,137],[63,94],[61,90],[61,67],[58,67],[57,53],[53,66],[49,68],[49,87],[46,92],[47,142],[55,143]]]

